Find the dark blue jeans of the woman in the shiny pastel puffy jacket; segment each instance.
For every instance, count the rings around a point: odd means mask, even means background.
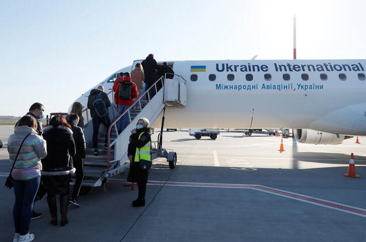
[[[31,223],[33,203],[37,194],[41,177],[30,180],[14,180],[15,203],[13,208],[13,218],[15,232],[20,235],[28,233]]]

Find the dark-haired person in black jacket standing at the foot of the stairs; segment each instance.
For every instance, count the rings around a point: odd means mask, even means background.
[[[80,207],[80,203],[77,200],[77,197],[79,196],[80,188],[82,179],[84,178],[84,172],[83,172],[83,162],[85,158],[85,137],[84,132],[82,129],[76,124],[78,123],[79,117],[77,114],[70,114],[68,117],[68,123],[71,125],[72,130],[72,137],[74,138],[75,142],[75,155],[72,156],[72,165],[76,169],[75,171],[75,184],[74,188],[72,190],[72,197],[69,200],[68,204],[73,204],[76,207]]]

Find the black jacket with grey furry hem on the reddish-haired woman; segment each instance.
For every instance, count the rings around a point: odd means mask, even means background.
[[[71,129],[50,125],[43,130],[43,138],[47,141],[47,156],[42,159],[42,176],[74,173],[72,156],[75,155],[75,142]]]

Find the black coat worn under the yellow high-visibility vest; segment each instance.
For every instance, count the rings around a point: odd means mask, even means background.
[[[142,128],[137,129],[136,133],[131,134],[130,136],[130,143],[128,144],[128,151],[127,155],[133,156],[133,160],[135,158],[136,147],[141,148],[147,142],[151,141],[151,129],[150,128]],[[144,132],[139,140],[138,137]],[[129,182],[138,182],[138,183],[147,183],[147,179],[149,177],[148,171],[142,171],[139,168],[137,162],[130,163],[130,170],[128,172],[127,181]]]

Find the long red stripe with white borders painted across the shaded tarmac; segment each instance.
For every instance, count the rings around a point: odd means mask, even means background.
[[[0,173],[1,177],[9,176],[9,173]],[[111,183],[125,183],[131,184],[127,182],[125,179],[115,179],[110,178],[107,180]],[[309,204],[330,208],[333,210],[337,210],[340,212],[345,212],[361,217],[366,217],[366,209],[349,206],[342,203],[336,203],[324,199],[319,199],[315,197],[310,197],[306,195],[302,195],[299,193],[288,192],[285,190],[265,187],[262,185],[248,185],[248,184],[225,184],[225,183],[192,183],[192,182],[161,182],[161,181],[149,181],[148,185],[157,185],[157,186],[175,186],[175,187],[208,187],[208,188],[240,188],[240,189],[253,189],[259,192],[265,192],[276,196],[281,196],[293,200],[297,200],[300,202],[306,202]]]

